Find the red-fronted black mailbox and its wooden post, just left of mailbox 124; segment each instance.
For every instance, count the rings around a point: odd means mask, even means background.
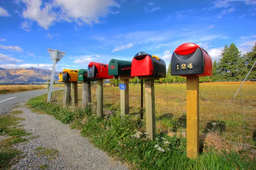
[[[163,59],[139,52],[131,62],[131,76],[145,79],[146,132],[148,138],[154,140],[156,136],[154,80],[166,77],[166,64]]]

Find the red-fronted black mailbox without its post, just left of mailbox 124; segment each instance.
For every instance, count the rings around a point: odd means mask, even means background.
[[[157,56],[139,52],[132,59],[131,76],[166,77],[166,63]]]

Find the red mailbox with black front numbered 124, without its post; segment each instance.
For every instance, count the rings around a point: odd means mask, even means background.
[[[212,75],[212,58],[204,50],[194,43],[185,43],[172,54],[171,74],[174,75]]]

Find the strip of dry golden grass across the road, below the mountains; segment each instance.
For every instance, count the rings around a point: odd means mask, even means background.
[[[45,85],[0,85],[0,94],[11,94],[47,88]]]

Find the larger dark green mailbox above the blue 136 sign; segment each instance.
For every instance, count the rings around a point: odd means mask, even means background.
[[[131,61],[111,59],[108,63],[108,75],[131,76]]]

